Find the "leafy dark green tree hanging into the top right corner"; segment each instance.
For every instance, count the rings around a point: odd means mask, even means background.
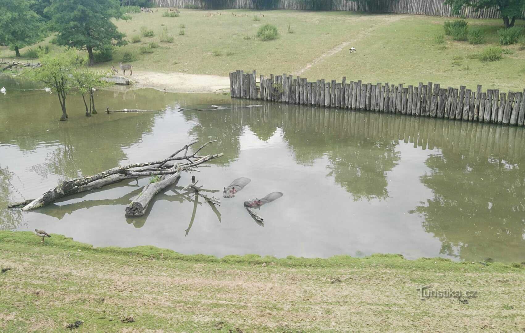
[[[498,7],[506,28],[513,27],[514,22],[521,17],[525,9],[525,0],[445,0],[445,4],[452,6],[454,14],[459,14],[463,7],[472,7],[477,10]]]

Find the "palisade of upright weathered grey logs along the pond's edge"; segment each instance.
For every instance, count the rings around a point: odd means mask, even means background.
[[[282,74],[270,78],[254,70],[229,73],[230,95],[234,98],[321,106],[381,113],[407,114],[423,117],[457,119],[474,122],[523,126],[525,122],[525,89],[523,92],[500,93],[498,89],[476,91],[441,88],[439,83],[419,85],[363,83],[350,81],[309,82],[306,78]]]

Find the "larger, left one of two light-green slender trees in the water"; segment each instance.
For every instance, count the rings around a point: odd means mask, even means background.
[[[78,56],[74,50],[59,53],[55,57],[40,53],[41,67],[26,69],[24,76],[28,79],[41,82],[51,88],[58,95],[62,108],[61,121],[68,119],[66,112],[66,98],[71,89],[75,87],[72,70],[77,66]]]

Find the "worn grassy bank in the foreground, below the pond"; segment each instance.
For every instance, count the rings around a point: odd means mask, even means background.
[[[266,266],[262,266],[266,263]],[[521,265],[181,255],[0,232],[0,328],[55,331],[522,331]],[[419,299],[416,287],[477,291]],[[123,323],[133,317],[134,322]]]

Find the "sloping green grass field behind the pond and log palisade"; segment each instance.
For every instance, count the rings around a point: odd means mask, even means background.
[[[469,59],[488,45],[469,45],[445,37],[435,44],[443,23],[450,18],[363,14],[354,12],[309,12],[299,10],[204,10],[183,9],[179,17],[163,17],[164,9],[153,14],[132,14],[132,20],[116,22],[131,41],[141,35],[141,27],[153,30],[153,37],[118,48],[108,68],[131,52],[137,60],[135,70],[187,72],[227,76],[235,69],[256,69],[260,74],[300,74],[309,79],[362,79],[366,82],[417,84],[422,81],[442,86],[467,85],[502,90],[524,88],[525,50],[517,45],[505,47],[507,54],[494,62]],[[210,15],[214,14],[213,16]],[[235,16],[233,15],[235,14]],[[254,20],[253,15],[259,20]],[[261,16],[260,14],[264,15]],[[469,19],[469,27],[486,31],[487,42],[497,44],[499,19]],[[277,26],[276,40],[261,41],[257,29],[264,24]],[[288,25],[290,25],[289,33]],[[517,25],[523,25],[520,20]],[[184,28],[181,28],[184,27]],[[165,30],[164,30],[165,29]],[[181,31],[184,30],[184,35]],[[173,42],[160,41],[161,34]],[[40,45],[47,45],[47,41]],[[141,54],[150,42],[160,47]],[[358,51],[349,54],[348,49]],[[28,48],[22,49],[22,53]],[[51,47],[57,51],[57,47]],[[13,56],[0,49],[0,57]]]

